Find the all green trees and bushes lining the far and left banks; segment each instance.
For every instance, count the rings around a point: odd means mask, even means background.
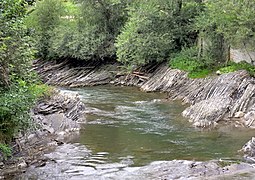
[[[254,8],[247,0],[1,1],[0,151],[8,156],[6,143],[31,128],[29,110],[48,91],[30,70],[34,58],[76,68],[113,61],[127,73],[167,61],[192,78],[253,76],[253,65],[229,62],[229,48],[252,50]]]

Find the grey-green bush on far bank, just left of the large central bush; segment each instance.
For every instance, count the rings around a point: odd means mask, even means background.
[[[113,57],[115,37],[126,19],[125,7],[126,2],[122,0],[82,1],[77,23],[61,37],[56,36],[56,52],[62,52],[60,56],[83,60]]]

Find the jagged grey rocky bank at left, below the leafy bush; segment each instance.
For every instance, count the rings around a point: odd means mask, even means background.
[[[35,127],[16,137],[13,157],[0,162],[0,179],[11,178],[31,165],[45,165],[45,153],[78,134],[79,123],[85,122],[85,105],[77,94],[55,90],[36,104],[31,116]]]

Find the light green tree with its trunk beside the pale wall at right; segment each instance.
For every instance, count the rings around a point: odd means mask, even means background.
[[[214,59],[225,60],[227,45],[253,45],[255,40],[255,2],[247,0],[208,0],[196,27],[207,39],[207,50]],[[220,56],[222,54],[222,56]]]

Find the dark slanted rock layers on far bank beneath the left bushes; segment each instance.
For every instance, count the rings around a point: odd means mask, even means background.
[[[82,87],[108,84],[114,78],[116,63],[70,62],[63,60],[34,62],[34,70],[46,84],[56,86]]]

